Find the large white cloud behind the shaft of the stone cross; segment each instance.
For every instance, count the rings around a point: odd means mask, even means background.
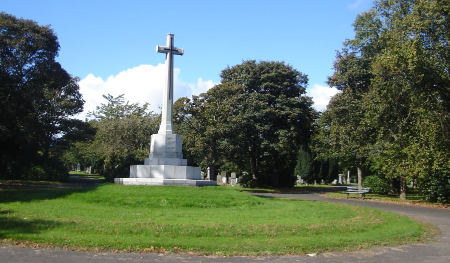
[[[202,78],[198,78],[197,83],[186,83],[179,78],[179,72],[179,68],[173,69],[175,100],[183,96],[190,97],[192,94],[198,95],[215,84],[211,80],[203,81]],[[106,80],[89,74],[78,84],[85,100],[84,111],[75,116],[78,119],[84,120],[87,112],[95,110],[101,103],[106,103],[102,95],[108,93],[114,97],[124,94],[124,98],[130,103],[138,102],[142,105],[148,102],[151,110],[159,112],[158,106],[161,106],[162,90],[165,86],[165,66],[139,65],[111,75]]]

